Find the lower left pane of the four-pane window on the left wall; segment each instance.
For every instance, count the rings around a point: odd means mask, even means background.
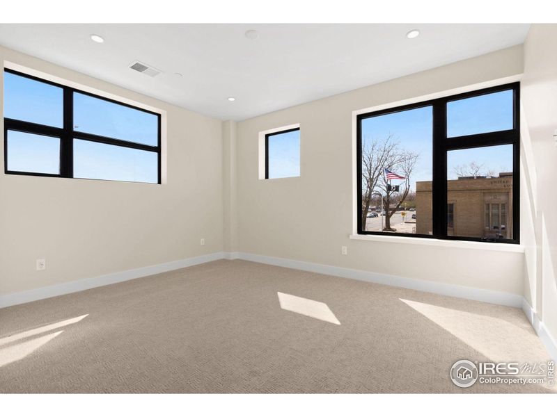
[[[8,131],[8,170],[60,174],[60,138]]]

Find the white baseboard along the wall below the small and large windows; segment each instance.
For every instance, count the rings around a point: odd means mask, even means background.
[[[359,281],[375,282],[390,286],[409,288],[411,290],[425,291],[451,297],[465,298],[467,300],[483,301],[503,306],[521,308],[523,297],[518,294],[504,293],[503,291],[485,290],[482,288],[471,288],[456,284],[444,284],[442,282],[425,281],[424,279],[402,278],[394,275],[377,274],[338,266],[323,265],[321,263],[311,263],[305,261],[295,261],[293,259],[275,258],[273,256],[256,255],[248,253],[237,253],[237,259],[267,263],[269,265],[283,266],[309,272],[317,272],[336,277],[358,279]]]

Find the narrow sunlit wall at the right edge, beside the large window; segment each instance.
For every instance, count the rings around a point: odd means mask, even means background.
[[[557,25],[535,24],[524,44],[522,142],[526,216],[524,293],[557,337]]]

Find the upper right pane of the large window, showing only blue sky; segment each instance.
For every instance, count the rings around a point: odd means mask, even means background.
[[[447,103],[447,136],[512,129],[512,90]]]

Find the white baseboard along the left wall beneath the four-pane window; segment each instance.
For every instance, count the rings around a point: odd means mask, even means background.
[[[122,272],[113,272],[111,274],[100,275],[98,277],[78,279],[77,281],[45,286],[29,291],[22,291],[20,293],[0,295],[0,309],[3,307],[14,306],[16,304],[42,300],[44,298],[56,297],[57,295],[77,293],[77,291],[84,291],[89,288],[116,284],[117,282],[128,281],[129,279],[148,277],[149,275],[160,274],[161,272],[186,268],[188,266],[199,265],[200,263],[217,261],[217,259],[224,259],[225,257],[225,252],[214,252],[212,254],[195,256],[194,258],[180,259],[180,261],[159,263],[158,265],[145,266],[143,268],[125,270]]]

